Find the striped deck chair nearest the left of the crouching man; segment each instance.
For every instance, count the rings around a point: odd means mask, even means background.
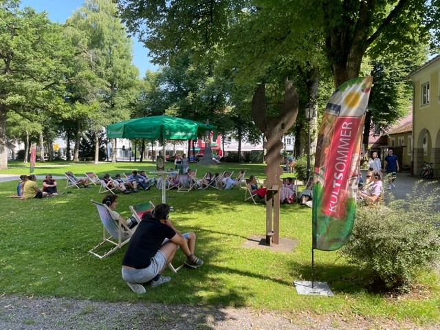
[[[113,213],[107,205],[98,203],[98,201],[94,201],[93,199],[91,199],[91,203],[93,203],[98,209],[103,229],[102,241],[98,245],[94,246],[94,248],[89,250],[89,252],[94,256],[98,256],[99,259],[102,259],[122,248],[122,246],[124,246],[126,243],[129,243],[130,237],[134,230],[128,228],[126,224],[119,221],[119,219],[115,219]],[[100,254],[98,252],[98,248],[105,243],[110,243],[113,245],[113,247],[109,250],[106,249],[107,251],[104,251],[103,254]]]

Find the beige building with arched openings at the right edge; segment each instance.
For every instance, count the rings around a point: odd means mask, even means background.
[[[421,172],[423,162],[434,163],[434,176],[440,175],[440,55],[412,72],[412,164]],[[408,144],[408,148],[410,148]]]

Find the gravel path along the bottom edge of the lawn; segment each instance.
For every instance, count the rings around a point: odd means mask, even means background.
[[[65,298],[0,296],[0,329],[440,329],[339,314],[277,314],[251,309],[158,303],[97,303]]]

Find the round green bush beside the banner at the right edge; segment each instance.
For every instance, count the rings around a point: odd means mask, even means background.
[[[374,292],[408,292],[417,275],[439,259],[439,215],[431,207],[439,202],[438,190],[428,194],[419,186],[408,200],[358,207],[350,241],[340,253],[360,267]]]

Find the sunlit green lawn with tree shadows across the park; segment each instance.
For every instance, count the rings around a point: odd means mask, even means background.
[[[61,165],[50,167],[52,165]],[[168,165],[168,164],[167,164]],[[72,170],[85,172],[124,173],[131,169],[155,169],[153,163],[37,164],[35,174],[63,175]],[[170,166],[172,166],[170,164]],[[167,166],[170,167],[170,166]],[[207,170],[222,172],[246,170],[246,176],[264,177],[261,164],[222,164],[190,166],[198,177]],[[20,163],[0,174],[28,173]],[[287,175],[284,175],[287,176]],[[41,181],[38,180],[41,186]],[[52,199],[19,200],[6,195],[14,193],[17,181],[0,184],[0,292],[26,296],[63,296],[105,301],[146,301],[165,304],[246,306],[275,311],[314,311],[338,313],[351,318],[393,318],[428,324],[440,320],[439,278],[423,274],[417,295],[390,298],[369,294],[359,283],[360,274],[338,252],[315,251],[316,281],[325,281],[335,296],[299,296],[293,282],[311,279],[311,209],[297,204],[281,206],[281,234],[298,242],[292,252],[273,252],[243,248],[250,236],[265,234],[265,206],[245,202],[245,191],[195,190],[167,192],[167,202],[175,208],[172,219],[182,232],[197,233],[196,254],[205,261],[198,270],[182,269],[167,285],[136,296],[122,281],[121,259],[125,247],[106,259],[89,254],[102,239],[102,225],[90,199],[100,201],[99,187],[70,189]],[[58,180],[60,191],[65,180]],[[160,202],[157,189],[137,194],[120,195],[118,211],[129,216],[130,204]],[[174,265],[184,261],[177,252]]]

